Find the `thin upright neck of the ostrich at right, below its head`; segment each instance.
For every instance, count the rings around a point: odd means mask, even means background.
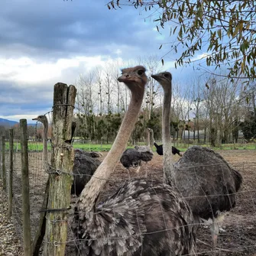
[[[167,182],[174,184],[174,168],[172,160],[172,144],[170,139],[170,103],[172,92],[171,89],[164,90],[164,106],[163,106],[163,149],[164,149],[164,177]]]

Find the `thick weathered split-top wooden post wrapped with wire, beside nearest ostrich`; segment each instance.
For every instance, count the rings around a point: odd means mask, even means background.
[[[73,176],[71,127],[76,87],[57,83],[53,95],[52,157],[44,255],[63,256],[66,248]]]

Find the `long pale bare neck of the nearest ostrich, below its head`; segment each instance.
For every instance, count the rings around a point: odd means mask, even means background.
[[[143,96],[144,90],[143,92],[137,93],[131,92],[131,102],[128,107],[128,111],[125,114],[125,118],[123,119],[122,125],[119,128],[114,144],[112,145],[109,154],[107,154],[105,159],[102,161],[102,164],[93,174],[89,183],[86,184],[85,189],[79,197],[78,206],[80,210],[86,209],[86,211],[93,211],[93,207],[95,206],[99,193],[102,191],[107,180],[109,180],[109,177],[111,177],[111,174],[115,169],[115,164],[117,164],[125,150],[131,131],[137,121]]]

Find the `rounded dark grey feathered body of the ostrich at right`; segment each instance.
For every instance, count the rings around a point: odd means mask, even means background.
[[[219,154],[206,147],[190,147],[174,165],[176,186],[193,213],[203,219],[235,206],[241,174],[229,167]]]

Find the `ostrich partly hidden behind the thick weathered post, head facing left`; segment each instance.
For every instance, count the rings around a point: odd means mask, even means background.
[[[32,120],[36,120],[37,122],[41,122],[43,125],[43,164],[44,170],[48,168],[48,156],[47,156],[47,134],[48,134],[48,120],[45,115],[38,115],[37,118],[33,118]],[[75,123],[72,125],[72,134],[76,128]],[[101,162],[98,159],[92,158],[90,156],[99,156],[97,152],[86,152],[75,150],[74,157],[74,166],[73,166],[73,174],[74,179],[71,186],[71,194],[79,196],[82,192],[86,183],[92,177],[92,174],[99,167]]]

